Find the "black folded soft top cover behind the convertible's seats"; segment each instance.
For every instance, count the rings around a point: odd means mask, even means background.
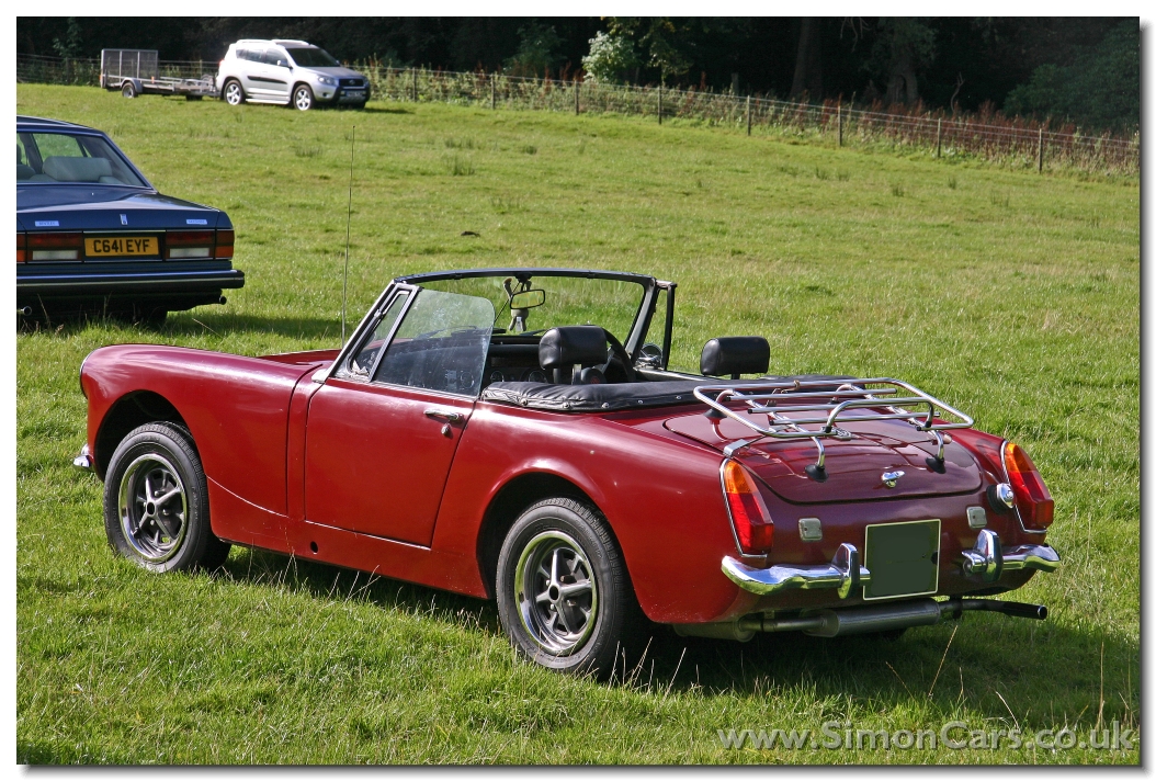
[[[796,374],[761,377],[768,382],[831,380],[833,390],[850,375]],[[646,407],[701,403],[694,389],[699,385],[750,385],[751,380],[672,380],[667,382],[608,382],[606,385],[554,385],[550,382],[494,382],[482,390],[482,401],[494,401],[556,412],[593,412]]]

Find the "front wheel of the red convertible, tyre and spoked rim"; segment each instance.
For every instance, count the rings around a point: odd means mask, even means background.
[[[224,564],[229,543],[209,526],[205,469],[183,426],[147,423],[117,446],[104,481],[104,530],[113,551],[153,572]]]

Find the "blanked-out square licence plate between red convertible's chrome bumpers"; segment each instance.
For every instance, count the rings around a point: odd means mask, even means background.
[[[940,521],[874,523],[864,541],[870,582],[864,600],[934,594],[939,588]]]

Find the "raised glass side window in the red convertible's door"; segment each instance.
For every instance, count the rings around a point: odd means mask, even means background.
[[[420,290],[373,381],[476,396],[492,332],[488,299]]]

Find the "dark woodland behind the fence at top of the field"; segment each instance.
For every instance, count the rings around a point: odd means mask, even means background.
[[[1051,116],[1134,129],[1140,27],[1128,17],[20,17],[18,54],[156,49],[216,60],[238,38],[303,38],[346,61],[571,79],[591,39],[627,42],[621,81]]]

